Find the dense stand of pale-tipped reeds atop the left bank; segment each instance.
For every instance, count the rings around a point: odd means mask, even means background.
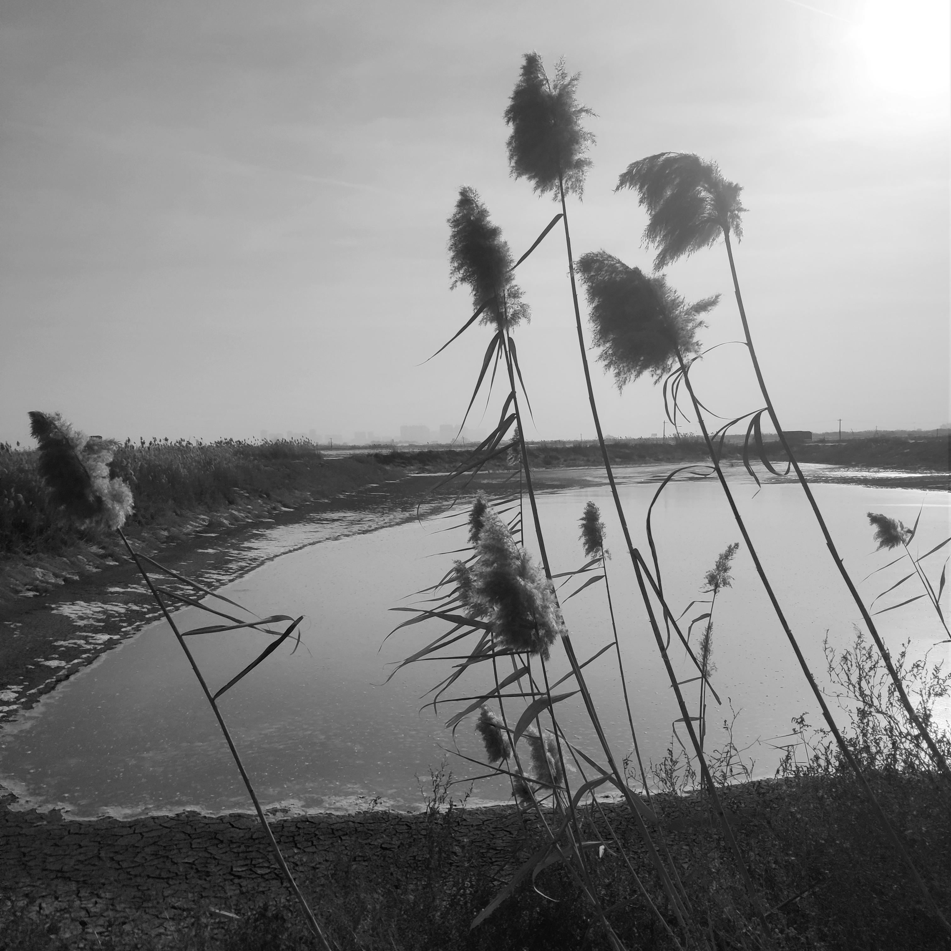
[[[307,440],[257,442],[218,439],[152,439],[112,444],[109,475],[133,490],[129,521],[150,525],[169,514],[213,512],[243,496],[270,498],[312,489],[322,474],[317,446]],[[49,504],[36,450],[0,445],[0,553],[32,553],[88,538],[94,526],[77,527]]]

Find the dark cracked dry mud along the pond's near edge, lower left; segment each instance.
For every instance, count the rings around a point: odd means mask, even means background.
[[[234,914],[245,904],[287,899],[253,815],[80,822],[56,811],[15,811],[8,802],[0,803],[0,904],[54,919],[70,947],[96,947],[107,934],[161,940],[199,911]],[[403,867],[429,859],[425,814],[275,818],[275,838],[301,883],[325,879],[341,864],[379,868],[397,851]],[[467,810],[456,848],[472,846],[502,875],[522,835],[514,808]]]

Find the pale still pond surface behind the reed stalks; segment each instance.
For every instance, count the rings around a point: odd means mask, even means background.
[[[650,560],[643,523],[656,483],[646,479],[643,470],[621,471],[620,476],[635,543]],[[786,617],[812,669],[827,684],[825,634],[842,648],[853,639],[853,625],[860,617],[802,492],[795,484],[775,481],[757,493],[740,468],[731,468],[729,478]],[[646,614],[634,595],[631,564],[609,492],[598,474],[587,474],[587,481],[581,489],[539,496],[553,572],[577,568],[584,561],[577,520],[585,502],[593,499],[608,524],[608,545],[614,553],[609,562],[611,593],[635,725],[642,753],[657,762],[670,744],[671,721],[679,712]],[[895,556],[874,552],[865,518],[868,511],[910,525],[923,505],[914,543],[919,553],[951,534],[945,493],[843,484],[819,484],[814,489],[856,581]],[[443,724],[459,706],[440,707],[437,716],[432,708],[421,709],[427,690],[450,672],[449,662],[404,668],[384,683],[395,661],[445,630],[431,622],[398,631],[383,644],[386,633],[407,616],[389,609],[412,603],[404,600],[407,594],[434,584],[446,571],[453,556],[438,553],[465,544],[461,532],[440,531],[447,524],[430,519],[421,525],[389,525],[320,541],[283,554],[223,589],[262,615],[306,615],[301,648],[292,653],[290,642],[285,642],[222,701],[263,803],[350,809],[377,797],[382,805],[413,808],[421,802],[417,776],[428,780],[429,767],[438,767],[443,759],[449,760],[456,776],[480,771],[446,752],[454,739]],[[718,553],[740,540],[712,479],[671,484],[655,509],[654,535],[665,592],[677,613],[704,596],[700,593],[704,574]],[[534,539],[527,540],[534,550]],[[941,560],[940,555],[929,559],[935,578]],[[901,568],[897,565],[860,584],[866,603],[907,573]],[[710,705],[708,746],[718,743],[719,725],[729,718],[731,702],[740,711],[737,745],[754,744],[747,757],[756,761],[755,774],[771,776],[778,753],[768,741],[786,734],[793,716],[805,712],[812,724],[821,718],[742,547],[733,575],[733,587],[718,598],[714,618],[712,681],[724,706]],[[892,601],[885,599],[880,606],[919,593],[911,585],[908,582]],[[569,586],[562,594],[572,590]],[[897,596],[905,590],[903,597]],[[188,610],[179,615],[185,628],[210,623],[198,621],[197,613]],[[611,640],[602,586],[568,601],[564,613],[580,658]],[[921,656],[931,648],[932,660],[947,663],[949,645],[932,647],[942,631],[926,601],[889,611],[878,620],[892,650],[910,638],[909,655]],[[230,632],[193,638],[190,643],[214,689],[242,670],[266,642],[256,632]],[[671,650],[671,656],[680,664],[682,678],[692,676],[681,663],[683,650]],[[567,669],[563,652],[555,645],[550,679]],[[630,747],[630,735],[613,654],[604,654],[586,672],[620,759]],[[454,695],[488,689],[488,674],[463,677]],[[695,686],[686,689],[689,697]],[[583,713],[571,708],[572,703],[560,705],[566,731],[593,755]],[[838,709],[834,702],[833,709]],[[942,716],[946,715],[945,708]],[[470,718],[460,725],[455,741],[462,751],[478,756],[472,723]],[[22,805],[59,806],[77,817],[250,807],[214,717],[165,623],[146,628],[110,651],[10,724],[0,734],[0,782],[18,794]],[[498,780],[480,781],[474,800],[503,800],[506,789]]]

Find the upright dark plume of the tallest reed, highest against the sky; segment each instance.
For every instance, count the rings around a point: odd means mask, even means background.
[[[550,81],[536,52],[526,53],[515,84],[505,122],[512,126],[506,144],[514,178],[528,178],[539,195],[553,192],[557,201],[559,182],[566,192],[581,198],[591,159],[585,152],[594,143],[581,119],[592,109],[575,98],[581,74],[569,76],[565,61],[558,60]]]

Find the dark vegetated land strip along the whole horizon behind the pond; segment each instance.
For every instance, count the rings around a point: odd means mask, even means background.
[[[767,448],[777,448],[775,445]],[[616,442],[609,446],[615,465],[675,464],[704,457],[700,439],[668,443]],[[948,471],[948,440],[894,437],[856,439],[839,444],[800,447],[804,462],[835,465]],[[193,444],[179,440],[148,445],[126,442],[118,448],[112,475],[126,479],[135,495],[129,522],[133,536],[163,534],[176,539],[196,518],[224,510],[266,512],[270,507],[296,507],[304,502],[352,491],[387,476],[383,467],[415,471],[452,468],[464,450],[398,450],[389,453],[325,460],[308,442],[239,442],[231,439]],[[593,443],[534,443],[530,460],[539,468],[600,465]],[[723,456],[740,459],[741,447],[724,446]],[[77,543],[98,544],[101,534],[68,524],[50,509],[47,492],[36,473],[36,453],[0,448],[0,558],[38,553],[60,554]],[[490,468],[501,467],[497,459]],[[111,544],[111,538],[109,538]]]

